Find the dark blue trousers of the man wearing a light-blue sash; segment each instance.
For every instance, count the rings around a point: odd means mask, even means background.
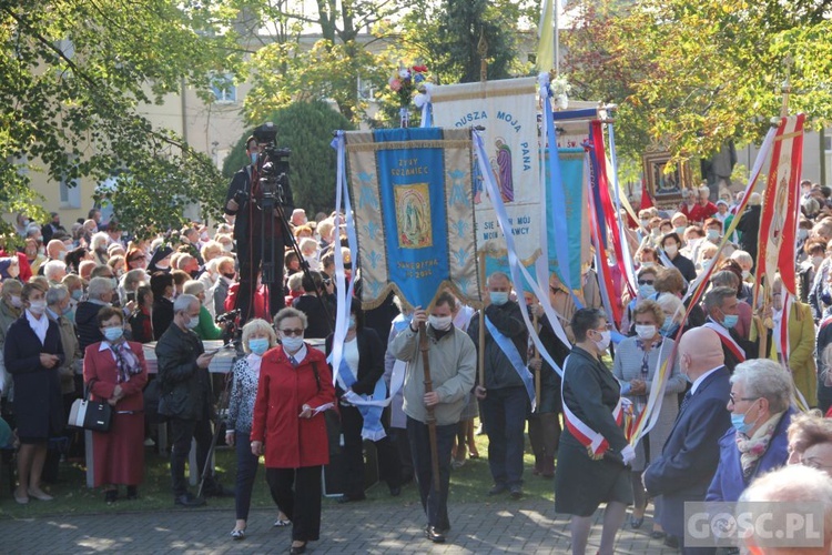
[[[522,452],[529,396],[525,387],[488,390],[480,415],[488,434],[488,467],[495,484],[522,484]]]

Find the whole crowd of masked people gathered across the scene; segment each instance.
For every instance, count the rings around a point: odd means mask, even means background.
[[[832,405],[832,190],[802,185],[792,299],[778,275],[755,286],[759,194],[742,213],[738,199],[712,203],[708,194],[698,190],[676,211],[641,210],[638,221],[621,215],[636,294],[610,250],[606,295],[587,265],[571,291],[552,273],[542,303],[493,272],[481,314],[449,292],[429,311],[394,295],[367,311],[352,300],[337,369],[327,362],[336,347],[335,249],[356,290],[361,272],[336,214],[285,214],[281,233],[294,241],[281,236],[281,279],[265,284],[258,265],[241,256],[252,246],[235,232],[246,202],[236,193],[216,228],[192,223],[151,239],[102,224],[97,211],[69,231],[58,214],[44,225],[20,214],[19,236],[6,238],[0,251],[0,390],[19,446],[14,500],[52,498],[43,485],[49,441],[68,435],[78,446],[68,413],[89,396],[113,407],[110,431],[92,434],[94,485],[108,503],[120,498],[119,486],[128,500],[139,496],[154,407],[170,426],[174,503],[234,495],[234,539],[246,534],[261,455],[274,526],[291,526],[291,551],[303,553],[319,537],[322,467],[339,451],[339,501],[365,500],[363,448],[371,440],[389,494],[415,480],[425,535],[442,543],[451,528],[451,471],[479,456],[478,417],[493,478],[484,495],[522,498],[528,437],[531,474],[554,478],[556,511],[571,515],[574,553],[584,553],[599,505],[606,504],[599,553],[608,554],[628,506],[628,525],[640,528],[651,503],[650,534],[688,552],[684,502],[769,495],[778,480],[771,472],[789,484],[803,480],[779,470],[790,463],[832,476],[832,420],[823,417]],[[283,250],[293,242],[297,250]],[[708,270],[702,301],[693,303],[687,293]],[[235,311],[241,305],[244,315]],[[524,311],[536,330],[527,329]],[[222,386],[207,372],[216,352],[203,342],[217,339],[237,339],[241,352],[222,418],[236,454],[234,488],[220,483],[207,456]],[[151,342],[155,375],[142,346]],[[359,402],[386,396],[397,373],[404,382],[389,408]],[[635,445],[616,417],[619,406],[630,420],[651,411],[650,428]],[[333,440],[333,426],[343,443]],[[593,451],[586,431],[605,448]],[[203,495],[185,480],[192,440]]]

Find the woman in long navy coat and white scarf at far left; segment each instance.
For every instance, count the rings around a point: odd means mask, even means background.
[[[44,314],[45,295],[47,287],[40,283],[23,285],[20,297],[26,310],[9,327],[3,346],[6,370],[14,380],[13,410],[20,440],[14,501],[21,505],[29,503],[29,497],[52,500],[41,490],[40,478],[47,442],[64,424],[58,374],[63,361],[61,332]]]

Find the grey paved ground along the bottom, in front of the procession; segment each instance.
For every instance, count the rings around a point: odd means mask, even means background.
[[[425,539],[425,517],[418,504],[325,504],[322,537],[310,544],[311,554],[399,553],[569,553],[568,518],[555,514],[542,500],[453,504],[448,543]],[[600,541],[601,512],[587,553]],[[649,513],[648,513],[649,514]],[[2,552],[41,553],[287,553],[291,532],[272,528],[274,511],[252,511],[247,537],[233,542],[233,512],[223,509],[171,509],[156,513],[104,513],[90,516],[51,516],[0,521]],[[650,518],[643,528],[650,529]],[[629,526],[619,532],[616,553],[676,554],[651,539],[646,531]]]

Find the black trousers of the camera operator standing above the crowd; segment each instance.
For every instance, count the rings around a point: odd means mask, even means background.
[[[253,232],[248,239],[237,238],[237,260],[240,261],[240,291],[237,291],[237,305],[240,309],[240,321],[245,323],[254,317],[252,300],[254,287],[256,287],[257,275],[263,262],[263,246],[267,252],[274,246],[274,283],[268,287],[268,315],[277,314],[286,304],[283,295],[283,259],[285,256],[284,241],[280,236],[265,241],[262,232]],[[266,255],[268,255],[266,252]]]

